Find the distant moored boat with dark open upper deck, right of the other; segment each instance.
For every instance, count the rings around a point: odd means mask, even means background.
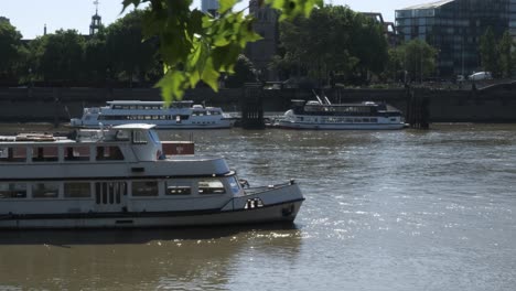
[[[331,104],[325,101],[292,100],[293,108],[278,120],[280,128],[291,129],[401,129],[401,111],[377,103]]]

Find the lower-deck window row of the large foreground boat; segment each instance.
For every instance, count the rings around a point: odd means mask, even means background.
[[[228,188],[238,193],[236,177],[229,177]],[[0,182],[0,200],[24,198],[95,198],[97,204],[120,203],[121,196],[158,197],[226,194],[218,177],[155,181],[71,181],[71,182]]]

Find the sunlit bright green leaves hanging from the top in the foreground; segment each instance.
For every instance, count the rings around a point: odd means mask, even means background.
[[[247,43],[260,40],[252,15],[234,12],[237,0],[221,0],[218,15],[191,10],[192,0],[123,0],[129,6],[149,4],[143,15],[144,40],[158,36],[164,76],[157,86],[165,101],[182,98],[201,80],[218,90],[221,73],[234,73],[234,64]],[[281,12],[280,20],[308,17],[322,0],[261,0]]]

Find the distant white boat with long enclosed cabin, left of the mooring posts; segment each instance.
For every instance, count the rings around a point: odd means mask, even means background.
[[[160,129],[229,128],[234,120],[219,107],[194,105],[192,100],[163,101],[117,100],[107,106],[84,108],[83,117],[72,118],[76,128],[100,128],[127,123],[152,123]]]

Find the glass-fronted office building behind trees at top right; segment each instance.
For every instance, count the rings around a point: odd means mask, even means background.
[[[396,31],[439,50],[437,76],[481,71],[480,39],[487,28],[516,37],[516,0],[443,0],[396,10]]]

